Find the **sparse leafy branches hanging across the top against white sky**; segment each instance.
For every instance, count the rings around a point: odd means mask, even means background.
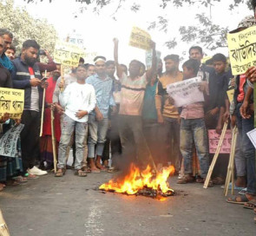
[[[49,3],[55,0],[23,0],[27,3],[36,3],[38,1],[49,1]],[[100,10],[111,3],[116,2],[116,0],[69,0],[74,3],[86,3],[83,7],[80,8],[80,12],[82,10],[87,9],[88,4],[93,4],[95,6],[94,10],[99,14]],[[121,6],[128,2],[128,0],[119,0],[119,4],[117,6],[118,11],[121,9]],[[132,2],[132,1],[130,1]],[[252,9],[251,6],[252,0],[233,0],[229,5],[229,10],[234,10],[240,6],[240,4],[247,4],[249,9]],[[166,9],[167,6],[172,5],[177,8],[186,7],[189,5],[195,5],[200,7],[204,7],[207,9],[211,9],[216,3],[220,3],[220,0],[158,0],[159,7],[162,9]],[[141,9],[140,1],[135,1],[131,5],[130,10],[139,11]],[[115,13],[114,13],[115,14]],[[113,14],[113,15],[114,15]],[[115,19],[115,16],[113,16]],[[168,49],[173,49],[177,42],[182,41],[185,43],[198,43],[202,45],[206,49],[217,49],[226,47],[226,33],[228,32],[227,27],[220,27],[220,25],[213,23],[211,16],[207,16],[206,14],[196,14],[195,19],[198,21],[198,25],[187,25],[181,26],[179,29],[180,36],[176,36],[167,41],[166,46]],[[159,29],[164,32],[167,32],[167,29],[170,28],[170,24],[167,19],[163,16],[158,16],[154,22],[150,23],[148,29]]]

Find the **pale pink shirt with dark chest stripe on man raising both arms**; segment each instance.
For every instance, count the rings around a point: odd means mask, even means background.
[[[135,79],[122,74],[120,115],[141,115],[147,83],[146,73]]]

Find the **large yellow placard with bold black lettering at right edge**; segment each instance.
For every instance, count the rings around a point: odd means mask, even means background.
[[[229,58],[233,75],[241,75],[256,66],[256,26],[227,34]]]

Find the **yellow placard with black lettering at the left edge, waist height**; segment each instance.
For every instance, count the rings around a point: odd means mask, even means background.
[[[24,108],[24,90],[0,88],[0,117],[5,113],[12,119],[20,119]]]

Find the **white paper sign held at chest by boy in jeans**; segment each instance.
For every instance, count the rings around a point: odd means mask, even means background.
[[[200,76],[167,85],[167,93],[174,99],[174,106],[179,108],[194,102],[204,102],[204,94],[199,90]]]

